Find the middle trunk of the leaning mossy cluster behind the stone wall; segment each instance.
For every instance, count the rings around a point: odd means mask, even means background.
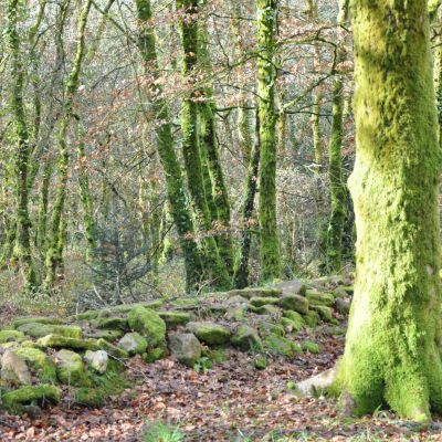
[[[177,10],[181,13],[179,27],[183,49],[182,75],[189,81],[189,86],[191,86],[198,66],[198,1],[177,0]],[[203,185],[203,166],[201,162],[198,128],[199,113],[196,98],[194,92],[188,92],[181,105],[182,152],[188,188],[198,223],[201,225],[202,233],[206,236],[202,242],[206,249],[204,261],[208,263],[208,276],[212,281],[212,285],[229,287],[231,285],[229,272],[220,256],[217,242],[211,232],[211,214]]]

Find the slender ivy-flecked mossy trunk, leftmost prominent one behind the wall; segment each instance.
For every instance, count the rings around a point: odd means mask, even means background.
[[[17,152],[14,158],[15,176],[15,202],[17,202],[17,233],[14,235],[13,255],[19,262],[23,275],[23,286],[25,290],[36,288],[36,274],[31,255],[29,218],[29,189],[28,172],[30,160],[30,134],[27,125],[24,110],[24,65],[20,51],[19,38],[19,0],[9,0],[7,4],[7,28],[6,39],[9,55],[11,57],[11,117],[17,138]]]

